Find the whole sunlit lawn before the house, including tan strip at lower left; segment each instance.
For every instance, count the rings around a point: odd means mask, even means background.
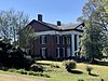
[[[83,63],[77,64],[77,69],[75,70],[81,71],[82,73],[67,72],[62,62],[38,60],[37,63],[45,68],[43,73],[49,75],[51,78],[0,71],[0,81],[78,81],[78,79],[84,79],[84,81],[100,81],[100,78],[103,78],[104,81],[108,81],[108,66],[90,65],[93,67],[92,73],[97,75],[96,77],[87,75],[85,70],[87,64]],[[58,65],[59,68],[51,67],[51,64]]]

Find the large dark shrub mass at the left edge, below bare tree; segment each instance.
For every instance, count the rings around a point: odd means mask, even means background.
[[[25,68],[29,69],[33,64],[33,59],[30,55],[27,55],[19,46],[14,46],[10,42],[5,41],[5,39],[0,39],[0,69],[8,70],[2,67],[8,68]]]

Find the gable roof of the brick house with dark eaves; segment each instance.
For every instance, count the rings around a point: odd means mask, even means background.
[[[31,25],[33,22],[40,23],[53,30],[57,30],[57,31],[67,31],[67,30],[77,30],[77,31],[83,31],[78,29],[79,26],[83,26],[84,27],[84,23],[80,24],[80,25],[75,25],[75,26],[57,26],[54,24],[50,24],[50,23],[45,23],[45,22],[40,22],[40,21],[36,21],[32,19],[28,25]]]

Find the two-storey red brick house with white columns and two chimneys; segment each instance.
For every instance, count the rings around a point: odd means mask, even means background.
[[[57,25],[44,23],[42,15],[38,15],[38,21],[32,19],[28,25],[35,29],[38,39],[33,40],[30,48],[32,57],[44,59],[67,58],[77,56],[79,50],[80,37],[83,32],[84,24],[76,27],[64,27],[60,22]]]

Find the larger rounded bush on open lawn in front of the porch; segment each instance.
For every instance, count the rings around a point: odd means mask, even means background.
[[[65,60],[64,62],[65,68],[67,69],[67,71],[70,71],[71,69],[76,69],[77,68],[77,63],[75,60]]]

